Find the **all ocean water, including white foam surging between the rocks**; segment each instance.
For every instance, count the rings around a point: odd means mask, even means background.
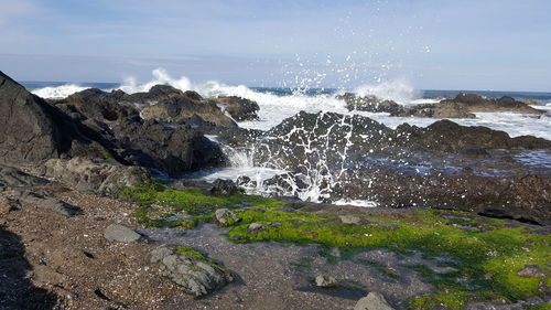
[[[22,84],[32,93],[44,98],[63,98],[73,93],[86,88],[95,87],[104,90],[122,89],[126,93],[147,92],[153,85],[169,84],[182,90],[195,90],[204,97],[239,96],[255,100],[259,104],[260,110],[257,113],[258,120],[242,121],[242,128],[268,130],[279,125],[283,119],[292,117],[301,110],[307,113],[331,111],[343,115],[359,114],[370,117],[390,128],[396,128],[401,124],[426,127],[437,119],[420,117],[391,117],[386,113],[349,111],[343,100],[336,95],[346,90],[360,95],[376,95],[383,99],[392,99],[402,105],[417,105],[421,103],[439,103],[441,99],[451,98],[460,93],[473,93],[486,97],[510,96],[517,99],[538,100],[541,105],[534,106],[539,109],[548,110],[545,115],[530,115],[518,113],[477,113],[474,119],[453,119],[453,121],[464,126],[485,126],[496,130],[503,130],[511,137],[531,135],[551,140],[551,93],[530,92],[491,92],[491,90],[439,90],[439,89],[414,89],[410,85],[402,83],[388,83],[380,85],[365,85],[353,89],[334,88],[306,88],[292,89],[281,87],[247,87],[244,85],[225,85],[218,82],[207,82],[193,84],[186,77],[173,79],[163,72],[158,72],[155,79],[138,84],[129,81],[125,84],[118,83],[64,83],[64,82],[23,82]],[[216,136],[207,136],[216,141]],[[269,194],[260,186],[264,180],[277,174],[285,173],[282,169],[274,169],[264,163],[255,163],[251,152],[242,150],[228,150],[223,147],[230,160],[230,167],[214,170],[203,170],[185,175],[186,179],[199,179],[212,182],[218,178],[236,180],[240,175],[247,175],[257,182],[257,186],[247,188],[249,193]],[[530,164],[547,167],[549,164],[549,151],[525,152],[519,154],[520,159]],[[301,199],[310,201],[320,200],[320,189],[315,183],[301,193]],[[289,193],[291,194],[291,193]],[[371,201],[343,201],[337,204],[350,204],[372,206]]]

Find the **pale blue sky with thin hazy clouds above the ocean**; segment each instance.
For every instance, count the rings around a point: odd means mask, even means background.
[[[0,0],[18,81],[551,92],[549,0]]]

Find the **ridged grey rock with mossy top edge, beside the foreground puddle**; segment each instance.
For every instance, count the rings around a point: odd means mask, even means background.
[[[208,295],[234,280],[230,272],[212,259],[186,256],[174,247],[155,248],[151,253],[151,263],[159,263],[161,275],[195,297]]]

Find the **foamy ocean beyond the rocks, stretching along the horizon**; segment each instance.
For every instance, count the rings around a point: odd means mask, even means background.
[[[344,101],[335,98],[344,92],[355,92],[363,95],[376,95],[380,98],[392,99],[402,105],[421,103],[437,103],[451,98],[460,93],[473,93],[486,97],[510,96],[517,99],[538,100],[542,105],[539,109],[549,110],[547,115],[536,116],[516,113],[478,113],[475,119],[454,119],[464,126],[486,126],[496,130],[508,132],[511,137],[531,135],[551,140],[551,93],[532,92],[505,92],[505,90],[440,90],[414,89],[409,85],[388,83],[375,86],[359,86],[352,89],[335,88],[306,88],[293,89],[283,87],[247,87],[244,85],[225,85],[218,82],[193,84],[188,78],[171,78],[165,73],[154,74],[155,78],[145,84],[134,81],[127,83],[65,83],[65,82],[22,82],[28,89],[44,98],[63,98],[86,88],[100,88],[104,90],[122,89],[127,93],[147,92],[155,84],[170,84],[182,90],[196,90],[205,97],[219,95],[239,96],[255,100],[260,106],[259,120],[240,122],[239,126],[250,129],[268,130],[280,124],[284,118],[291,117],[301,110],[309,113],[333,111],[350,114]],[[390,128],[408,122],[425,127],[435,121],[433,118],[419,117],[390,117],[385,113],[352,111],[370,117]]]

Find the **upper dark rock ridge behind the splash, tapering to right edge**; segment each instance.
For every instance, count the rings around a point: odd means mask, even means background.
[[[223,136],[220,141],[233,147],[253,147],[256,162],[271,161],[290,171],[301,167],[312,169],[312,164],[317,163],[331,168],[339,165],[344,158],[355,161],[366,156],[400,157],[406,150],[461,154],[469,148],[551,148],[551,141],[545,139],[531,136],[510,138],[504,131],[460,126],[450,120],[439,120],[426,128],[404,124],[392,130],[367,117],[334,113],[301,111],[263,133],[269,139],[258,139],[258,132],[253,132],[256,136],[250,136],[250,139],[247,132]]]

